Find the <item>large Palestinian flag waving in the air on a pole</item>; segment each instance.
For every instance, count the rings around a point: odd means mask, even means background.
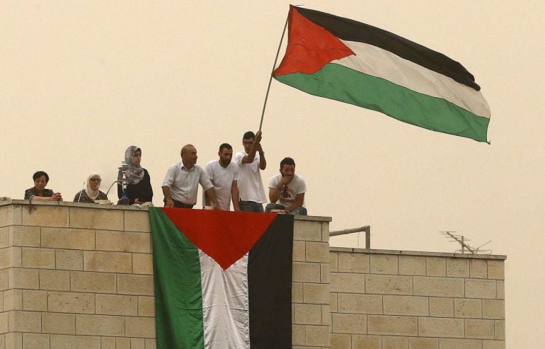
[[[459,62],[372,25],[290,6],[277,81],[428,130],[487,142],[488,103]]]

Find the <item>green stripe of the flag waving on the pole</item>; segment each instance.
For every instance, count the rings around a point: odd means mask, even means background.
[[[326,64],[315,74],[294,73],[275,79],[311,95],[377,110],[428,130],[487,142],[488,118],[339,64]]]

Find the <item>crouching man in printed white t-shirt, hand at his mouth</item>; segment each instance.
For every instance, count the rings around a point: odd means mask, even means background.
[[[280,161],[280,173],[270,178],[270,204],[265,207],[267,212],[282,210],[285,213],[306,216],[304,207],[306,184],[301,176],[295,174],[295,161],[284,158]]]

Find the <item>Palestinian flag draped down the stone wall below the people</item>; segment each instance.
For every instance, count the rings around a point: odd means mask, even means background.
[[[293,216],[149,207],[157,348],[292,348]]]

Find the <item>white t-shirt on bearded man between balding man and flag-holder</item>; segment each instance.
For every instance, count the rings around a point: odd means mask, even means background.
[[[227,167],[212,160],[206,164],[206,174],[214,185],[217,202],[222,210],[231,210],[231,187],[233,181],[239,181],[239,166],[231,162]],[[205,205],[205,194],[202,195],[202,205]]]

